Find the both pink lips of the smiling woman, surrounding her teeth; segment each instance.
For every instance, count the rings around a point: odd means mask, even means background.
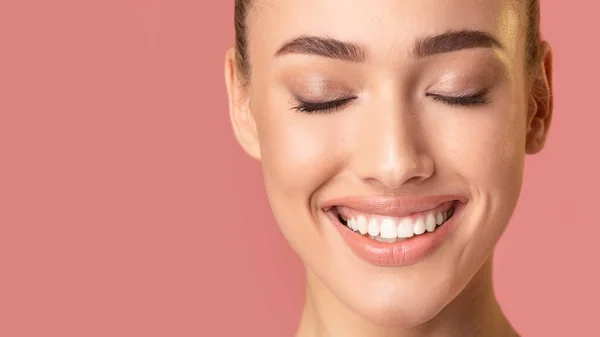
[[[389,197],[349,198],[332,200],[332,202],[342,200],[347,202],[338,203],[337,205],[352,207],[365,213],[386,216],[406,216],[433,209],[444,202],[455,201],[454,214],[443,225],[437,227],[435,231],[415,235],[395,243],[379,242],[349,229],[338,220],[335,212],[333,212],[335,204],[328,202],[329,206],[323,208],[323,210],[354,254],[367,263],[381,267],[402,267],[416,264],[434,253],[456,228],[466,204],[466,199],[459,196],[411,197],[409,199]],[[408,202],[402,203],[402,200],[408,200]],[[381,208],[378,208],[378,205]],[[401,206],[394,209],[393,205]]]

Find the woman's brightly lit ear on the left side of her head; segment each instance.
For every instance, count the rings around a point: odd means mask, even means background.
[[[229,117],[235,137],[248,155],[260,160],[256,122],[250,111],[249,88],[240,80],[235,48],[230,48],[225,54],[225,85],[229,97]]]

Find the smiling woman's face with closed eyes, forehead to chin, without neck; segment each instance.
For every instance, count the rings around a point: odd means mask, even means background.
[[[530,112],[521,6],[256,2],[234,127],[323,298],[416,325],[490,257],[547,117]],[[431,227],[436,211],[449,220]]]

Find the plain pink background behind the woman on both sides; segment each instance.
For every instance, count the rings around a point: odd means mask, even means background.
[[[496,288],[598,336],[596,1],[543,1],[555,117]],[[299,261],[230,130],[233,1],[0,1],[0,336],[292,336]]]

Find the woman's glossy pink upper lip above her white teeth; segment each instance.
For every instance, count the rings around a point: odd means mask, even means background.
[[[389,217],[403,217],[414,213],[434,209],[449,201],[465,203],[467,199],[461,195],[419,195],[419,196],[363,196],[343,197],[326,201],[323,210],[341,206],[355,211],[378,214]]]

